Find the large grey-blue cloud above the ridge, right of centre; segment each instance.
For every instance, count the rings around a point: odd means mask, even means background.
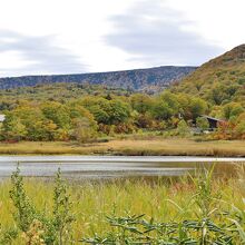
[[[151,66],[199,65],[223,51],[189,31],[193,23],[161,3],[138,1],[127,13],[110,18],[115,32],[106,37],[106,42]]]

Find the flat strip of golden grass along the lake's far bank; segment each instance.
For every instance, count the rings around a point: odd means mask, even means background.
[[[193,139],[161,138],[116,139],[89,145],[22,141],[1,143],[0,154],[245,156],[245,141],[195,141]]]

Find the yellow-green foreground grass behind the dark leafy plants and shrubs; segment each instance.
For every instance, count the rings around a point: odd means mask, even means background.
[[[104,184],[70,184],[68,192],[72,200],[71,213],[76,217],[71,228],[75,244],[79,244],[78,241],[82,237],[95,236],[95,233],[106,236],[106,233],[111,231],[106,222],[108,215],[145,214],[145,220],[154,219],[154,222],[165,223],[174,220],[179,224],[183,220],[205,220],[208,216],[213,222],[222,224],[224,227],[232,218],[237,218],[237,215],[242,214],[244,216],[239,219],[239,226],[241,232],[244,232],[245,203],[243,198],[245,196],[245,179],[242,171],[239,173],[241,176],[237,176],[237,178],[215,178],[212,184],[207,184],[208,180],[206,180],[204,185],[196,185],[187,177],[173,182],[159,179],[155,183],[126,180]],[[52,188],[53,184],[51,183],[33,179],[24,182],[24,189],[29,198],[38,210],[43,210],[48,216],[52,215]],[[9,180],[0,184],[1,237],[4,231],[17,227],[12,215],[16,208],[9,198],[10,189]],[[112,231],[115,232],[115,228]],[[21,234],[19,231],[18,237],[10,244],[27,244],[23,242]],[[239,237],[239,233],[235,234]],[[237,237],[234,243],[228,244],[243,244],[242,238]]]

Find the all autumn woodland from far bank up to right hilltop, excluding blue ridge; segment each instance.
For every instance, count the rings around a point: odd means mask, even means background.
[[[144,131],[188,137],[193,127],[200,134],[208,129],[202,115],[223,119],[203,139],[244,139],[245,45],[154,95],[89,82],[40,84],[0,90],[0,110],[1,139],[8,141],[88,143]]]

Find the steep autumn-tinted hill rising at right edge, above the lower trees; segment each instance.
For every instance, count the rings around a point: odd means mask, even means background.
[[[204,63],[171,91],[197,95],[214,105],[237,101],[245,106],[245,45]]]

